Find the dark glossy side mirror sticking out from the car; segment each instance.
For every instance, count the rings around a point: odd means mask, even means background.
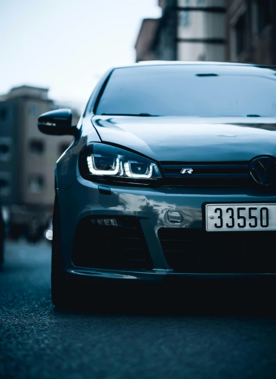
[[[38,129],[44,134],[56,136],[74,135],[76,125],[72,125],[71,109],[57,109],[41,114],[37,120]]]

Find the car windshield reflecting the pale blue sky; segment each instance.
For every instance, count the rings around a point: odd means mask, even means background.
[[[253,73],[252,73],[253,72]],[[114,69],[96,114],[275,116],[275,71],[257,67],[160,65]]]

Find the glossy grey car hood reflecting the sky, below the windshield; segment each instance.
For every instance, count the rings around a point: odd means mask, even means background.
[[[157,161],[245,161],[276,155],[276,118],[94,116],[101,140]]]

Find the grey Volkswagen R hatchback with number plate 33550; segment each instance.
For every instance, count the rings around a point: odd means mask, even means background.
[[[273,277],[275,116],[275,68],[171,61],[110,69],[77,125],[42,114],[42,133],[74,136],[55,168],[54,305],[80,279]]]

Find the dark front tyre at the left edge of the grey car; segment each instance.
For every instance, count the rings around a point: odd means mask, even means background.
[[[53,241],[52,241],[52,268],[51,293],[52,302],[57,308],[66,308],[72,304],[71,283],[66,279],[61,269],[61,236],[58,197],[55,196],[53,213]]]

